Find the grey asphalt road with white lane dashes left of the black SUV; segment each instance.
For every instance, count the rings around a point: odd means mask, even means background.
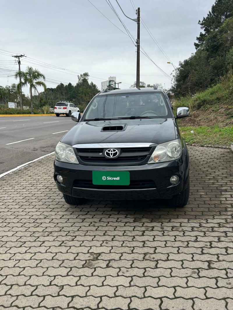
[[[0,117],[0,174],[52,153],[75,124],[66,116]]]

